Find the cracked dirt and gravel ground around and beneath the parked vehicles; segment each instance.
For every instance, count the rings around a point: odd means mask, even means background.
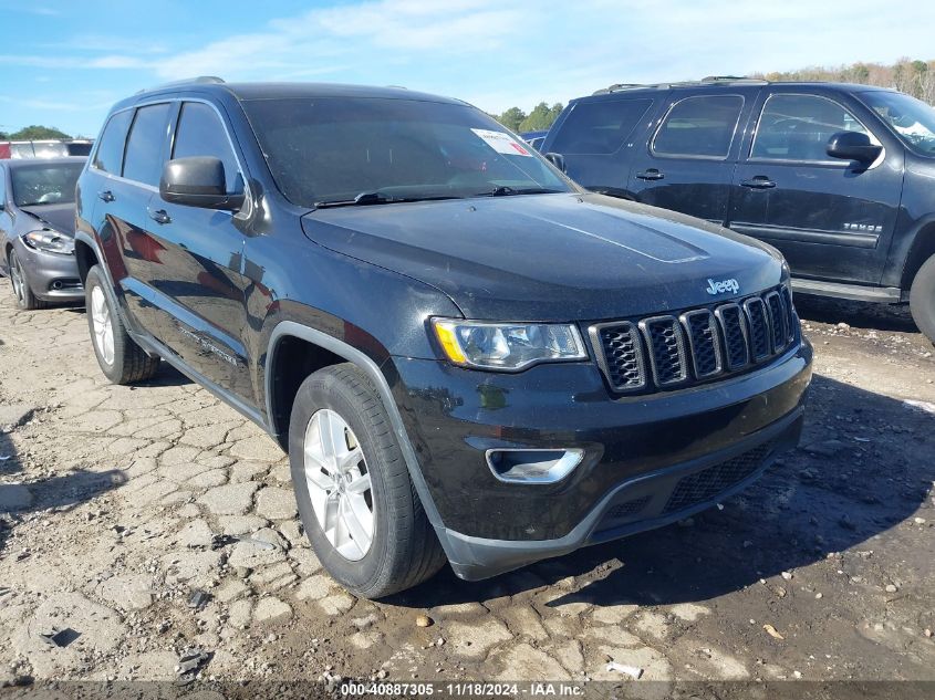
[[[372,603],[259,428],[165,366],[110,386],[83,310],[0,299],[0,682],[175,679],[193,648],[225,680],[935,680],[935,359],[904,311],[798,300],[803,447],[721,509]]]

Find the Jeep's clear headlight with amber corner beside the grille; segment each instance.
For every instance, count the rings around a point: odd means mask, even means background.
[[[456,365],[516,372],[542,362],[588,359],[570,324],[486,323],[434,318],[445,355]]]

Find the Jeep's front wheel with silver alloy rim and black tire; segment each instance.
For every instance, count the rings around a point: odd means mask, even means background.
[[[312,547],[354,595],[411,588],[445,564],[386,409],[354,365],[326,367],[299,387],[289,461]]]

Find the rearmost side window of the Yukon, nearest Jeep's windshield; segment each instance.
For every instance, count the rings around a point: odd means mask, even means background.
[[[552,149],[561,154],[616,153],[652,104],[652,100],[578,103],[562,124]]]

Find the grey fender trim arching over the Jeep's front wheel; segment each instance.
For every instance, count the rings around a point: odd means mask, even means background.
[[[416,488],[416,493],[418,494],[422,506],[428,518],[428,522],[432,523],[432,526],[435,529],[435,533],[438,536],[441,548],[445,550],[445,554],[448,555],[449,560],[451,560],[450,555],[453,546],[448,536],[448,531],[441,522],[441,516],[438,513],[438,509],[435,506],[435,501],[428,490],[428,484],[425,482],[425,477],[422,473],[422,467],[418,463],[415,449],[413,448],[413,445],[409,441],[409,436],[403,425],[403,417],[399,414],[399,408],[396,406],[396,401],[393,399],[393,393],[389,390],[389,384],[386,382],[386,377],[383,372],[381,372],[377,364],[353,345],[349,345],[344,341],[340,341],[328,333],[301,325],[294,321],[281,321],[276,325],[276,327],[273,327],[269,345],[267,347],[267,358],[273,358],[276,356],[277,345],[279,345],[279,342],[285,336],[307,341],[312,345],[318,345],[319,347],[343,357],[363,372],[373,383],[373,386],[376,388],[380,399],[383,403],[383,407],[386,409],[386,415],[389,417],[389,424],[393,427],[393,432],[396,436],[399,450],[403,452],[403,459],[406,461],[406,469],[409,472],[409,479],[413,480],[413,484]],[[272,372],[266,373],[264,389],[266,411],[268,417],[273,415],[272,376]],[[270,427],[272,427],[271,419]]]

